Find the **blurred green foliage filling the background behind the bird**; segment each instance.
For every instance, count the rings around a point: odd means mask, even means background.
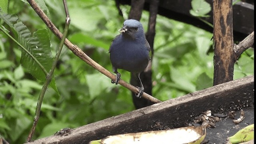
[[[114,0],[74,0],[67,3],[71,18],[68,39],[112,72],[108,48],[119,34],[118,29],[124,19],[128,18],[130,6],[120,6],[124,14],[122,18]],[[46,0],[45,5],[40,4],[63,32],[66,16],[62,1]],[[31,33],[47,29],[30,5],[22,0],[9,1],[8,14],[17,15]],[[145,32],[148,15],[147,11],[142,13]],[[12,33],[2,20],[0,24]],[[50,30],[48,32],[54,56],[60,40]],[[212,33],[157,16],[152,63],[154,97],[164,101],[212,86],[211,38]],[[11,144],[26,141],[43,84],[24,70],[20,59],[18,45],[0,32],[0,134]],[[120,72],[122,79],[129,82],[129,72]],[[252,74],[254,50],[250,48],[236,62],[234,79]],[[54,76],[60,95],[48,88],[34,139],[50,136],[62,128],[76,128],[135,109],[129,90],[111,84],[109,78],[66,47],[62,50]]]

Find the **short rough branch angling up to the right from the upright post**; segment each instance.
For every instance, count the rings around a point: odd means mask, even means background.
[[[234,45],[234,52],[236,53],[236,58],[238,58],[245,50],[250,48],[254,43],[254,31],[249,34],[244,40],[239,42],[239,44]]]

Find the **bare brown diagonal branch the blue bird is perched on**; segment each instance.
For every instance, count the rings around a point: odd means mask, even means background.
[[[46,24],[46,26],[48,26],[48,28],[50,28],[50,30],[59,38],[62,38],[62,33],[58,30],[58,28],[56,28],[56,26],[50,21],[50,19],[46,16],[46,14],[40,9],[40,7],[36,4],[36,2],[34,0],[27,0],[28,3],[30,4],[30,6],[34,9],[34,11],[38,14],[38,16],[44,21],[44,23]],[[108,70],[106,70],[105,68],[103,68],[102,66],[100,66],[100,64],[98,64],[97,62],[95,62],[94,60],[92,60],[89,56],[87,56],[80,48],[78,48],[78,46],[72,44],[67,38],[65,39],[64,44],[76,55],[78,56],[80,59],[82,59],[84,62],[86,62],[87,64],[89,64],[90,66],[92,66],[93,68],[95,68],[96,70],[98,70],[99,72],[101,72],[102,74],[104,74],[105,76],[107,76],[108,78],[115,80],[116,76],[114,74],[112,74],[111,72],[109,72]],[[128,88],[129,90],[131,90],[132,92],[136,92],[138,93],[139,90],[138,88],[136,88],[135,86],[132,86],[131,84],[128,84],[127,82],[125,82],[124,80],[120,80],[119,84],[121,84],[122,86]],[[146,94],[145,92],[142,94],[142,97],[150,100],[152,102],[158,103],[161,102],[160,100],[150,96],[149,94]]]

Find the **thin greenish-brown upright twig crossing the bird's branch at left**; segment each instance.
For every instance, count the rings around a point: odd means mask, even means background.
[[[63,1],[65,1],[65,0],[63,0]],[[66,6],[67,5],[66,5],[66,1],[65,1],[64,2],[64,7],[65,7],[65,10],[68,10],[66,8]],[[68,12],[66,12],[66,14],[68,14]],[[36,114],[35,114],[35,117],[34,117],[34,122],[33,122],[32,128],[30,130],[30,133],[28,134],[27,142],[30,142],[30,140],[31,140],[31,138],[32,138],[32,136],[34,134],[34,131],[35,131],[35,128],[36,128],[36,124],[37,124],[39,116],[40,116],[40,110],[41,110],[42,102],[43,102],[43,99],[44,99],[44,94],[45,94],[45,92],[46,92],[46,90],[47,90],[47,88],[48,88],[48,86],[49,86],[49,84],[50,84],[50,82],[52,80],[54,69],[56,68],[58,59],[60,57],[60,53],[61,53],[63,45],[64,45],[64,40],[65,40],[66,36],[68,35],[69,24],[70,24],[70,18],[69,18],[69,15],[67,15],[63,37],[62,37],[62,39],[60,41],[57,53],[55,55],[55,58],[54,58],[54,61],[53,61],[53,64],[52,64],[52,68],[50,69],[50,72],[46,76],[46,80],[45,80],[44,85],[42,87],[40,96],[38,98],[37,105],[36,105]]]

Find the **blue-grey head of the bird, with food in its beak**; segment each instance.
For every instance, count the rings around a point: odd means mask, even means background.
[[[124,25],[119,32],[132,39],[139,38],[141,36],[144,37],[142,24],[138,20],[125,20]]]

